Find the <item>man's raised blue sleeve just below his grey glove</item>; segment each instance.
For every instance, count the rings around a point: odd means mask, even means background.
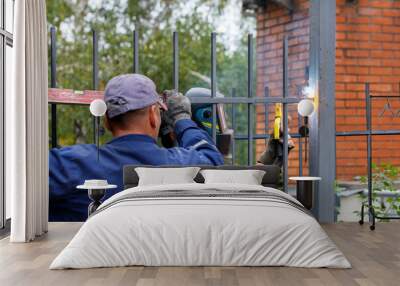
[[[175,134],[179,144],[179,148],[185,149],[180,152],[183,155],[183,164],[199,164],[199,165],[222,165],[224,159],[218,151],[213,140],[206,131],[199,128],[195,122],[190,119],[179,120],[175,124]]]

